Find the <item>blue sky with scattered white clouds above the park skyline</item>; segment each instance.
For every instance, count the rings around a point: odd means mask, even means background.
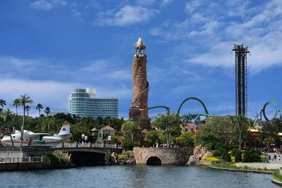
[[[245,44],[248,116],[266,101],[282,108],[282,1],[4,0],[0,1],[0,99],[20,94],[67,111],[73,88],[118,96],[119,116],[132,100],[134,45],[147,46],[149,105],[177,111],[190,96],[209,113],[235,113],[233,44]],[[267,108],[269,115],[274,107]],[[163,113],[162,109],[150,115]],[[203,112],[189,101],[184,113]]]

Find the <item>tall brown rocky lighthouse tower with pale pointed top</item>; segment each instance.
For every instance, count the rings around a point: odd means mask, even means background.
[[[146,46],[141,38],[135,44],[133,58],[133,101],[129,110],[129,118],[140,120],[142,129],[150,130],[148,118],[149,82],[147,81],[147,56]]]

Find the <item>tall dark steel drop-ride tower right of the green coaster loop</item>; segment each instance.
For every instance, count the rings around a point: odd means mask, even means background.
[[[235,113],[247,117],[247,54],[250,51],[244,44],[234,44],[232,51],[235,51]]]

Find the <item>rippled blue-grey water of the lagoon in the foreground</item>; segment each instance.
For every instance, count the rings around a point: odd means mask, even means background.
[[[278,187],[271,175],[185,165],[103,165],[1,172],[0,187]]]

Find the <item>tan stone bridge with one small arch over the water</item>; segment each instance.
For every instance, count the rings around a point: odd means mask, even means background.
[[[194,148],[137,148],[133,149],[136,164],[180,165],[188,162]]]

